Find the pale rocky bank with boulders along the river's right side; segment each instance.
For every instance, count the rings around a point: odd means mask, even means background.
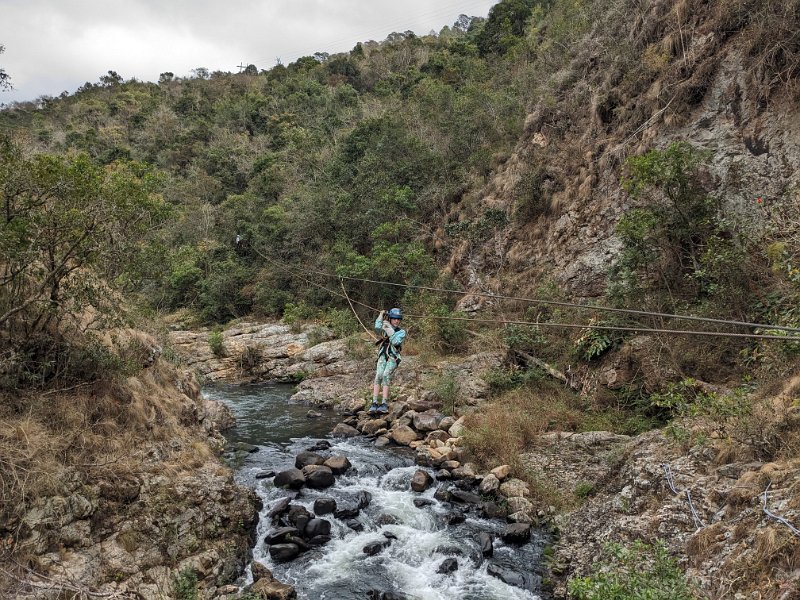
[[[700,422],[683,425],[691,432],[688,440],[663,431],[636,437],[607,432],[539,436],[522,459],[528,477],[545,482],[565,500],[554,514],[529,487],[507,485],[470,463],[461,423],[442,414],[441,398],[432,390],[437,377],[454,374],[462,383],[457,413],[479,409],[486,395],[483,375],[502,362],[502,355],[485,353],[435,365],[404,358],[391,412],[376,419],[361,411],[371,376],[370,355],[354,358],[345,342],[335,340],[308,347],[307,332],[291,334],[283,326],[248,327],[253,343],[269,337],[264,331],[282,336],[283,350],[274,351],[277,367],[262,372],[281,376],[302,371],[306,378],[295,400],[341,411],[345,419],[335,434],[365,435],[378,446],[408,446],[419,464],[436,469],[440,481],[468,480],[479,494],[500,494],[500,504],[509,507],[509,521],[551,523],[559,533],[550,564],[556,597],[567,597],[569,578],[591,572],[603,560],[607,543],[635,540],[663,540],[708,598],[798,597],[797,536],[763,510],[763,493],[770,485],[768,508],[800,525],[800,464],[773,461],[768,451],[754,457],[751,451],[760,447],[763,440],[755,438],[766,436],[767,430],[774,435],[797,427],[797,385],[775,399],[764,431],[748,432],[740,448],[714,424]],[[239,331],[230,338],[247,339]],[[204,364],[210,378],[231,372],[224,362],[208,359]],[[514,491],[509,493],[510,488]]]

